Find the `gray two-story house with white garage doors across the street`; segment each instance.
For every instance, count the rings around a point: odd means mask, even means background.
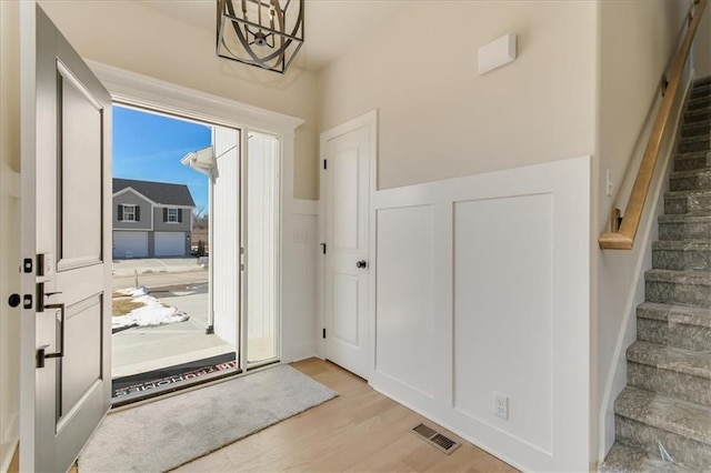
[[[189,256],[192,209],[184,184],[113,180],[113,258]]]

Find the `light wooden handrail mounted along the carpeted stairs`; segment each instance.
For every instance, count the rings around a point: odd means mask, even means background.
[[[700,0],[695,4],[695,14],[689,24],[689,31],[687,31],[684,42],[681,44],[681,50],[679,51],[677,60],[672,67],[667,93],[664,93],[664,98],[662,99],[662,103],[659,108],[659,113],[654,121],[654,127],[652,128],[649,142],[647,143],[644,157],[642,158],[642,163],[640,164],[640,169],[637,173],[630,200],[627,203],[622,224],[618,231],[602,233],[598,239],[598,243],[603,250],[631,250],[634,244],[634,236],[637,235],[637,230],[640,225],[640,220],[642,219],[642,211],[644,210],[649,188],[652,183],[654,168],[657,168],[662,139],[670,124],[672,105],[677,99],[677,94],[679,93],[681,77],[683,74],[687,59],[689,58],[691,43],[693,42],[693,37],[695,36],[697,30],[699,29],[699,23],[701,22],[701,17],[703,16],[708,1],[709,0]]]

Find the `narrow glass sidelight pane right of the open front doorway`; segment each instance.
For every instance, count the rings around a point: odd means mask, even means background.
[[[247,163],[247,360],[277,359],[279,140],[251,133]]]

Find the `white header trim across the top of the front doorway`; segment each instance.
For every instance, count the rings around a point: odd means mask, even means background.
[[[191,117],[216,124],[293,132],[302,119],[188,89],[100,62],[87,61],[117,102]]]

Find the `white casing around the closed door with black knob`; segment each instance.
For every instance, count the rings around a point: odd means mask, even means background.
[[[378,109],[373,109],[359,117],[356,117],[344,123],[323,131],[319,140],[319,241],[326,242],[326,180],[330,179],[327,170],[323,169],[323,150],[329,140],[338,138],[342,134],[350,133],[361,128],[368,128],[368,147],[369,147],[369,184],[368,184],[368,310],[367,325],[368,336],[365,343],[365,352],[368,353],[368,374],[375,370],[375,280],[378,275],[378,260],[375,251],[377,228],[375,228],[375,191],[378,190]],[[318,264],[317,298],[319,312],[319,328],[317,333],[317,353],[319,358],[326,359],[327,339],[323,336],[323,330],[327,326],[326,319],[326,258],[321,258]]]

